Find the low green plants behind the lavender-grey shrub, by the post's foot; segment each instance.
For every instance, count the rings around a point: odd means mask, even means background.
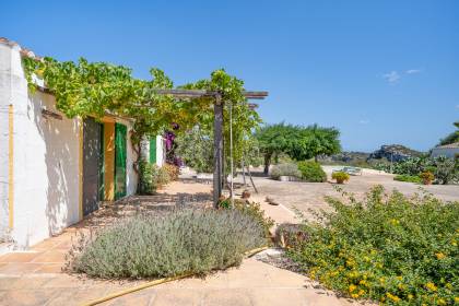
[[[220,201],[219,208],[231,209],[231,198]],[[234,209],[254,220],[263,228],[264,237],[270,237],[271,234],[269,229],[274,225],[274,220],[264,215],[264,211],[259,203],[234,199]]]

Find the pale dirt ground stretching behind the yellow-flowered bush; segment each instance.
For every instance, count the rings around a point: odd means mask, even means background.
[[[270,197],[279,203],[292,210],[299,210],[308,215],[309,209],[327,209],[328,205],[323,198],[326,196],[340,197],[333,188],[336,184],[331,183],[332,166],[325,166],[323,169],[328,176],[328,183],[301,183],[301,181],[279,181],[273,180],[261,175],[260,172],[255,172],[254,181],[258,188],[260,197]],[[243,183],[243,176],[238,175],[235,179],[237,183]],[[248,177],[246,181],[249,184]],[[393,175],[382,172],[364,169],[362,176],[351,176],[351,179],[340,185],[343,190],[352,192],[357,199],[362,199],[365,193],[376,185],[381,185],[387,191],[398,190],[407,196],[414,196],[415,193],[429,192],[435,197],[446,201],[459,201],[459,186],[458,185],[429,185],[421,186],[412,183],[403,183],[393,180]],[[254,196],[255,192],[252,192]]]

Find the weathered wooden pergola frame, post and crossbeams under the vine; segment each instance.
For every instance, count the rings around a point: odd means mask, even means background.
[[[160,95],[172,95],[176,98],[197,98],[211,97],[214,99],[213,104],[213,205],[216,208],[223,189],[223,108],[224,101],[222,94],[214,91],[205,90],[154,90],[153,93]],[[248,99],[263,99],[268,96],[268,92],[245,91],[244,97]],[[256,108],[258,105],[249,104],[250,108]]]

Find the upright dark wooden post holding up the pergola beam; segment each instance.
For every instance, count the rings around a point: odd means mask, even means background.
[[[213,207],[217,208],[223,186],[223,102],[215,95],[213,105]]]

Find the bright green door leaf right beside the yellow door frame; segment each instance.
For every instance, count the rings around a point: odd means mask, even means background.
[[[125,125],[115,125],[115,200],[126,196],[126,138]]]

